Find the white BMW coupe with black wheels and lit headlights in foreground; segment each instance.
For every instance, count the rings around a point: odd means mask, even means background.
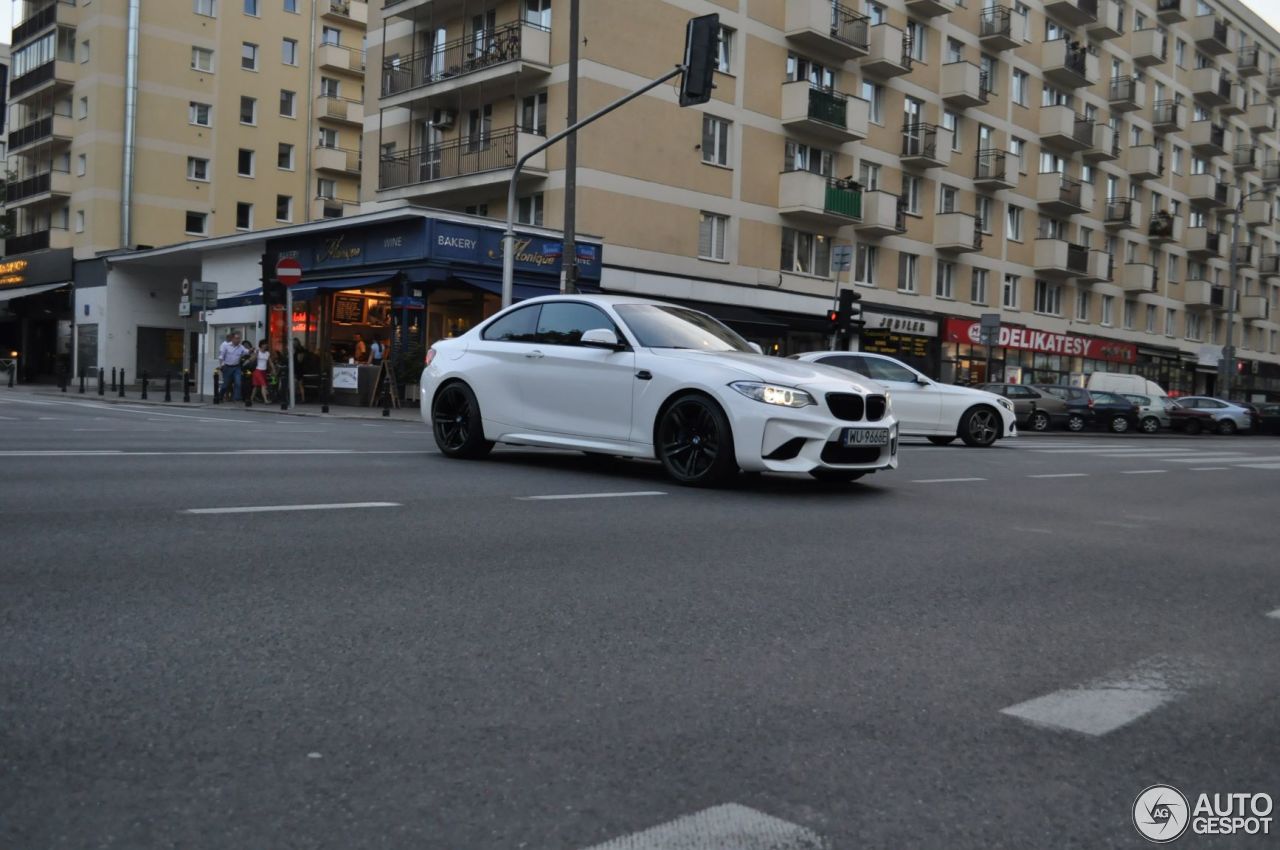
[[[547,296],[426,353],[422,420],[447,457],[494,443],[658,458],[680,484],[737,470],[851,481],[897,467],[873,381],[765,357],[716,319],[658,301]]]

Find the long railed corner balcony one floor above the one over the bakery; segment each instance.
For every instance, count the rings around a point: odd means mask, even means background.
[[[381,105],[404,106],[422,97],[543,78],[550,73],[550,29],[513,22],[480,41],[454,38],[434,50],[384,60]]]

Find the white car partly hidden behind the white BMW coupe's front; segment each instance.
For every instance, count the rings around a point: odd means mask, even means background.
[[[946,445],[959,437],[965,445],[980,447],[991,445],[1001,437],[1018,437],[1014,403],[1004,396],[940,384],[884,355],[814,351],[792,357],[847,369],[886,387],[893,393],[893,412],[904,435],[928,437],[937,445]]]

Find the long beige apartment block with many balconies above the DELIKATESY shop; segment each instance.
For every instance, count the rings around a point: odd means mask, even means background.
[[[1242,383],[1280,392],[1280,35],[1235,0],[591,0],[580,114],[678,61],[718,13],[712,102],[671,88],[582,133],[602,285],[701,303],[785,353],[838,285],[864,348],[978,381],[1137,370],[1210,390],[1240,198]],[[370,22],[367,201],[503,216],[564,127],[567,0],[385,0]],[[556,225],[564,155],[517,218]],[[849,271],[837,246],[852,247]]]

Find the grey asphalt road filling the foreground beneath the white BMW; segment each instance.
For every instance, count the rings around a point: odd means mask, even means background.
[[[1280,798],[1276,438],[698,492],[0,392],[0,481],[6,850],[1128,847],[1153,783]]]

